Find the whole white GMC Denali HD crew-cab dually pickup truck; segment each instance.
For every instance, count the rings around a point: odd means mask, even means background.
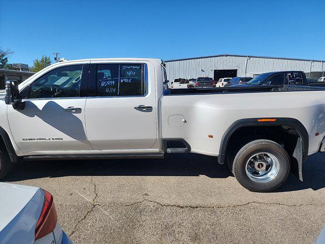
[[[325,89],[295,85],[168,89],[160,59],[51,65],[0,98],[0,178],[25,160],[163,158],[197,153],[228,164],[250,191],[302,180],[324,151]],[[218,126],[215,126],[218,125]],[[202,162],[204,164],[204,162]]]

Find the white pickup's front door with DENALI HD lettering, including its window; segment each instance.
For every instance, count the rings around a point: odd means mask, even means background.
[[[88,70],[89,64],[58,65],[20,90],[23,110],[8,105],[10,130],[23,153],[91,150],[84,119]]]

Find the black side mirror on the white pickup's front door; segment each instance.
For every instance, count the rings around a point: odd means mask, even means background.
[[[25,108],[25,102],[21,102],[17,80],[8,80],[6,82],[5,103],[8,105],[11,104],[16,110]]]

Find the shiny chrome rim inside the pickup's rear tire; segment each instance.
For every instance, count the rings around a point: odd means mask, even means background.
[[[269,182],[280,169],[279,160],[270,153],[258,153],[251,156],[246,163],[246,174],[255,182]]]

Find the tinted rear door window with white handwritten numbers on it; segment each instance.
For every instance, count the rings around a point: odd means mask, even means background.
[[[145,96],[144,64],[99,64],[96,96]]]

